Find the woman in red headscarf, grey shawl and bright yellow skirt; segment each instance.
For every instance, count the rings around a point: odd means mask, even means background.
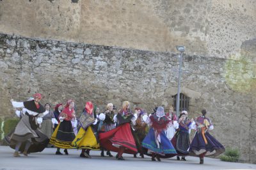
[[[100,150],[99,141],[96,137],[97,131],[93,129],[93,125],[97,123],[97,118],[93,115],[92,102],[86,102],[78,122],[81,128],[76,135],[76,139],[72,142],[72,146],[82,149],[80,157],[91,158],[90,150]]]

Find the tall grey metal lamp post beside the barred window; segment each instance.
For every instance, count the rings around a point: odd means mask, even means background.
[[[176,115],[177,117],[179,116],[179,111],[180,111],[180,75],[182,72],[181,66],[182,66],[182,57],[183,57],[183,52],[185,51],[184,46],[177,46],[177,50],[180,52],[180,65],[179,65],[179,82],[178,82],[178,93],[177,93],[177,98],[176,98]]]

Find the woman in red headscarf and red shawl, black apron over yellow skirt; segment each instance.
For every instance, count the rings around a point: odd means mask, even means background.
[[[68,100],[65,105],[65,109],[60,113],[59,120],[60,123],[58,127],[54,130],[50,143],[56,146],[58,149],[56,155],[60,152],[60,148],[70,149],[74,148],[71,146],[72,141],[75,139],[76,135],[74,134],[71,120],[76,117],[74,111],[74,101]],[[65,151],[65,154],[68,155],[68,152]]]

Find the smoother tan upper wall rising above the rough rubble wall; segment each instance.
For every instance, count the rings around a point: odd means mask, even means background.
[[[230,58],[256,36],[256,1],[0,1],[0,31],[95,45]]]

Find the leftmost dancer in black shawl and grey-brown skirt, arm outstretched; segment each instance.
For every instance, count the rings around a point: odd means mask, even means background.
[[[12,102],[13,107],[24,107],[24,116],[20,119],[15,127],[13,134],[10,135],[10,147],[15,149],[13,157],[20,157],[19,151],[23,155],[28,156],[28,153],[43,151],[49,143],[49,139],[40,130],[36,118],[43,117],[48,114],[44,106],[40,104],[42,95],[36,93],[33,95],[34,100],[26,102]]]

